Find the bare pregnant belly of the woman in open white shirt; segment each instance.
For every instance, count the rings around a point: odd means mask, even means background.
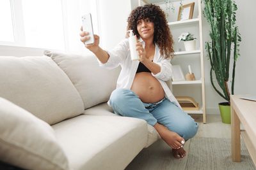
[[[136,73],[131,90],[144,103],[156,103],[164,98],[164,90],[160,82],[151,73]]]

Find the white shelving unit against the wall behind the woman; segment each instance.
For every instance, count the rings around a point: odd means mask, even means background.
[[[179,4],[180,0],[173,0],[173,3],[178,3]],[[132,0],[131,0],[132,2]],[[206,123],[206,115],[205,115],[205,85],[204,85],[204,53],[203,53],[203,38],[202,38],[202,7],[201,7],[201,0],[183,0],[183,4],[188,4],[195,2],[195,7],[194,7],[194,13],[196,13],[198,16],[194,15],[192,19],[189,20],[181,20],[181,21],[176,21],[175,18],[171,21],[168,22],[168,25],[170,26],[170,29],[172,31],[173,35],[173,40],[175,41],[175,44],[178,43],[177,37],[179,37],[179,34],[182,32],[179,32],[181,29],[186,29],[187,32],[191,32],[191,34],[194,34],[193,31],[198,32],[197,34],[197,40],[198,40],[198,50],[193,50],[193,51],[184,51],[181,50],[181,48],[176,47],[176,52],[174,53],[175,57],[174,59],[178,59],[178,61],[175,62],[175,65],[177,64],[182,64],[184,61],[189,61],[193,63],[196,63],[196,66],[194,67],[193,70],[195,69],[196,73],[196,80],[195,81],[173,81],[173,94],[175,96],[184,96],[184,94],[179,95],[178,91],[187,91],[186,96],[193,97],[191,95],[196,95],[196,98],[200,98],[200,101],[197,101],[199,103],[199,110],[191,110],[191,111],[186,111],[186,113],[193,113],[193,114],[202,114],[203,116],[203,122],[204,124]],[[157,4],[161,8],[164,8],[164,0],[138,0],[138,6],[141,6],[143,4]],[[164,10],[164,9],[163,9]],[[179,8],[175,8],[175,13],[177,16],[177,13],[179,11]],[[193,27],[193,29],[191,29]],[[177,32],[179,34],[175,34],[175,29],[177,29]],[[191,31],[192,30],[192,31]],[[174,33],[173,33],[174,32]],[[174,46],[175,47],[175,46]],[[193,55],[193,56],[192,56]],[[194,57],[194,55],[196,57]],[[174,60],[173,59],[173,60]],[[172,63],[173,64],[173,63]],[[185,66],[184,66],[185,67]],[[199,75],[200,74],[200,75]],[[199,77],[199,78],[198,78]],[[175,87],[178,90],[175,90]],[[199,88],[200,92],[192,94],[191,90],[192,88]],[[184,90],[182,90],[184,89]],[[190,91],[190,92],[189,92]],[[200,93],[200,94],[199,94]]]

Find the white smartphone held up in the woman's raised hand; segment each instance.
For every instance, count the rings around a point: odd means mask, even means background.
[[[89,32],[88,36],[90,36],[90,39],[88,39],[88,41],[85,41],[84,44],[93,44],[94,36],[92,27],[92,15],[90,13],[82,16],[82,27],[83,31]]]

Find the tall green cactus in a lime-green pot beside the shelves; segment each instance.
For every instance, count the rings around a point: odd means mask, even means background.
[[[211,41],[205,44],[207,56],[211,62],[211,84],[214,90],[227,101],[220,104],[230,106],[230,87],[231,94],[234,94],[236,61],[240,55],[239,42],[241,42],[236,25],[237,5],[232,0],[204,0],[204,4],[204,17],[211,26],[209,33]],[[230,75],[232,75],[231,80]],[[221,118],[227,118],[222,120],[224,123],[230,123],[230,113],[227,117],[221,115]]]

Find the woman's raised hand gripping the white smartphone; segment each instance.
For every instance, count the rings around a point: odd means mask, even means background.
[[[84,43],[86,41],[88,41],[90,39],[90,36],[88,36],[88,32],[83,31],[83,28],[81,27],[81,32],[80,32],[80,40]],[[93,35],[94,36],[94,43],[93,44],[84,44],[84,46],[86,48],[88,48],[88,50],[90,50],[91,52],[97,52],[97,50],[99,50],[99,42],[100,42],[100,37],[97,35]]]

